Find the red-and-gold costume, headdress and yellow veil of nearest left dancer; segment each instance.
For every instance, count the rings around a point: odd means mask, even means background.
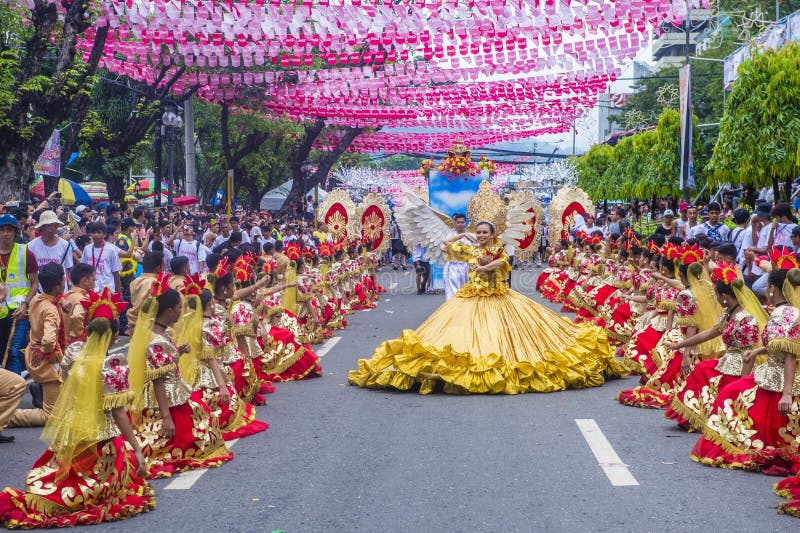
[[[124,309],[107,289],[102,296],[91,294],[90,305],[96,305],[85,307],[91,318],[113,320]],[[0,492],[0,521],[6,527],[99,524],[155,508],[153,490],[137,475],[134,452],[112,417],[133,393],[126,357],[106,353],[110,339],[106,326],[85,343],[71,345],[79,355],[63,362],[68,376],[43,433],[50,447],[28,473],[25,492]]]

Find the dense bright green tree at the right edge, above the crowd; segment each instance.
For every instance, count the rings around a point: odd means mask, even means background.
[[[791,182],[800,171],[800,44],[767,50],[739,67],[719,142],[712,182],[763,187]]]

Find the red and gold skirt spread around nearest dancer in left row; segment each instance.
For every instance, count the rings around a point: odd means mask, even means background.
[[[9,529],[99,524],[156,506],[153,489],[136,476],[136,459],[121,436],[81,454],[66,475],[48,449],[33,464],[26,484],[26,492],[0,492],[0,522]]]

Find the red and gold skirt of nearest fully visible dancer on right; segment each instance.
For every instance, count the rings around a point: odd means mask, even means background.
[[[798,461],[800,427],[778,412],[780,392],[756,385],[752,374],[720,389],[692,459],[709,466],[788,475]],[[800,398],[796,398],[800,413]]]

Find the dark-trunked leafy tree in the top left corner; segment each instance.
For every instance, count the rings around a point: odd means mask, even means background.
[[[0,6],[0,199],[20,194],[53,129],[80,122],[108,27],[95,29],[88,61],[78,36],[94,22],[92,2],[33,0]]]

